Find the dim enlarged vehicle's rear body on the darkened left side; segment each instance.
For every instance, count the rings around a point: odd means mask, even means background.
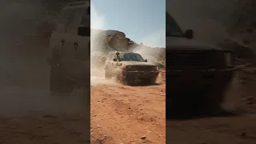
[[[50,91],[90,86],[90,1],[64,7],[50,36]]]

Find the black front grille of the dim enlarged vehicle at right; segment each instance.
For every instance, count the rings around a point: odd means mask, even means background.
[[[169,66],[206,66],[207,55],[206,51],[170,51],[166,52],[166,63]]]

